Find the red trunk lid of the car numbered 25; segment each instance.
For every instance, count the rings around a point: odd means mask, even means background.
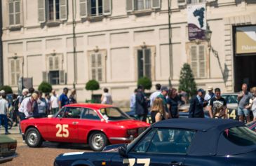
[[[119,121],[109,121],[115,125],[124,126],[126,128],[139,128],[139,127],[149,127],[148,123],[144,123],[139,120],[119,120]]]

